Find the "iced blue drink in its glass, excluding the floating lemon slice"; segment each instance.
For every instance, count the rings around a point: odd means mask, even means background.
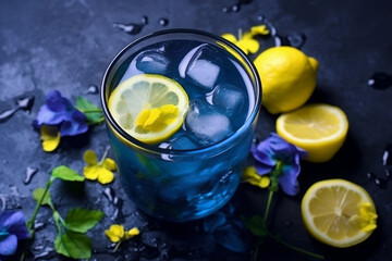
[[[135,75],[162,75],[188,96],[182,127],[159,144],[132,137],[109,110],[112,91]],[[197,30],[140,38],[109,65],[101,100],[121,183],[144,212],[174,222],[206,216],[235,192],[260,107],[252,62],[232,44]]]

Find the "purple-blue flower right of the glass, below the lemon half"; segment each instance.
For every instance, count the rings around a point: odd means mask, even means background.
[[[272,173],[283,191],[294,196],[298,192],[297,177],[301,172],[299,160],[307,157],[307,152],[282,139],[278,134],[270,136],[250,149],[256,170],[260,175]]]

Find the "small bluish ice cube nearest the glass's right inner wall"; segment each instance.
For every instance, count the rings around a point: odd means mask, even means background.
[[[232,116],[242,112],[245,98],[244,91],[240,88],[229,84],[221,84],[213,89],[211,103],[224,114]]]

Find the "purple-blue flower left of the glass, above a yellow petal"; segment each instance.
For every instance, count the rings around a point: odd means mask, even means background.
[[[86,116],[78,111],[60,91],[52,90],[46,96],[46,103],[40,108],[33,126],[39,129],[42,125],[58,126],[61,137],[75,136],[87,132]]]

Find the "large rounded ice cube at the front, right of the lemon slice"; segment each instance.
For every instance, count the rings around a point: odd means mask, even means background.
[[[229,117],[204,100],[189,102],[185,128],[203,146],[218,142],[233,132]]]

